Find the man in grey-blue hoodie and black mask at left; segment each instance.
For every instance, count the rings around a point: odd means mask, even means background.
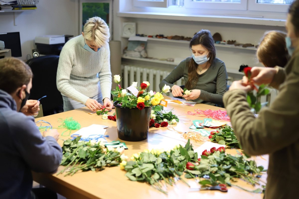
[[[31,170],[54,172],[62,159],[57,130],[42,136],[33,117],[27,116],[36,111],[27,101],[32,76],[23,61],[0,59],[0,198],[40,198],[31,191]],[[42,198],[50,197],[46,195]]]

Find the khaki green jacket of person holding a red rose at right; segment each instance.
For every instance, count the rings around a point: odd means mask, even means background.
[[[249,155],[269,154],[266,198],[298,198],[299,184],[299,51],[280,67],[270,86],[279,92],[257,118],[250,112],[246,93],[230,90],[223,102],[231,124]]]

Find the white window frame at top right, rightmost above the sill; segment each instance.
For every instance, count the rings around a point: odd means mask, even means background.
[[[287,13],[291,4],[257,3],[257,0],[248,0],[248,10]]]

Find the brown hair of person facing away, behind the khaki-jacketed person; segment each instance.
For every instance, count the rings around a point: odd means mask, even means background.
[[[284,67],[290,56],[286,48],[286,33],[278,30],[268,31],[261,38],[257,58],[266,67]]]

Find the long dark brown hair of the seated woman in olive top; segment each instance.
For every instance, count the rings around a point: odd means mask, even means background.
[[[211,64],[215,57],[216,57],[216,50],[214,46],[214,40],[211,35],[211,32],[209,30],[201,30],[198,33],[196,33],[193,38],[190,41],[189,48],[191,49],[192,46],[201,44],[202,47],[206,48],[209,51],[209,63]],[[197,69],[198,64],[191,59],[189,63],[189,69],[188,69],[188,81],[185,84],[185,87],[188,90],[191,90],[193,87],[195,87],[196,82],[198,80],[197,77]]]

